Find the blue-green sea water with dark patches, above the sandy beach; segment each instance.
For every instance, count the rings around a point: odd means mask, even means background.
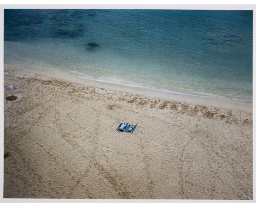
[[[4,62],[252,100],[253,11],[4,10]]]

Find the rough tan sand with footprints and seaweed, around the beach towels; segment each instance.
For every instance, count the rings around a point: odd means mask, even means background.
[[[4,198],[252,199],[252,113],[5,68]],[[120,133],[121,121],[138,123]]]

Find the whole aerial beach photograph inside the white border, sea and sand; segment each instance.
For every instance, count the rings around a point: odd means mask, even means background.
[[[4,198],[253,199],[253,10],[4,9]]]

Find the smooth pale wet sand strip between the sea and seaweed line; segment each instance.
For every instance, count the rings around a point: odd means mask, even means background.
[[[219,96],[214,97],[214,96],[189,95],[185,93],[171,92],[168,90],[153,89],[149,87],[139,87],[139,86],[132,86],[132,85],[129,86],[127,84],[121,84],[121,83],[97,81],[97,80],[67,75],[62,71],[53,71],[53,70],[51,70],[51,72],[39,71],[39,70],[26,69],[22,67],[20,68],[19,66],[9,65],[9,64],[4,64],[4,68],[16,68],[19,70],[24,70],[27,72],[31,72],[32,74],[38,74],[48,78],[62,79],[69,82],[83,84],[85,86],[106,88],[112,91],[123,91],[126,93],[132,93],[132,94],[151,97],[153,99],[164,99],[169,101],[186,102],[194,105],[204,105],[204,106],[211,106],[211,107],[217,107],[217,108],[220,107],[225,109],[235,109],[235,110],[237,109],[237,110],[245,111],[248,113],[252,113],[252,109],[253,109],[252,101],[228,99],[226,97],[220,98]],[[58,72],[60,72],[60,74],[57,74]]]

